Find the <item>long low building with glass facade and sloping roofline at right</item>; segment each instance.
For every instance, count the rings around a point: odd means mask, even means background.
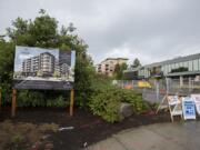
[[[197,77],[199,74],[200,53],[178,57],[124,71],[124,77],[128,79],[147,79],[151,77],[182,78]]]

